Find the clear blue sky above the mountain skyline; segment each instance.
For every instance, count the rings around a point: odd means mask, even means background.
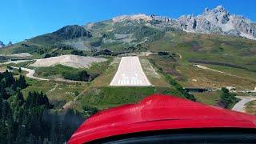
[[[254,0],[3,0],[0,41],[20,42],[66,25],[84,25],[120,14],[157,14],[178,18],[222,5],[256,22]]]

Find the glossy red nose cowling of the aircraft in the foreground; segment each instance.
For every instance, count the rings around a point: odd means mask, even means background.
[[[255,128],[256,116],[154,94],[138,104],[103,110],[88,118],[68,143],[90,142],[119,134],[183,128]]]

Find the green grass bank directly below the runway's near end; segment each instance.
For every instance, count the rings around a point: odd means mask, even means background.
[[[106,109],[124,104],[137,103],[150,94],[181,94],[173,87],[154,86],[103,86],[93,87],[79,96],[75,109],[82,110],[83,106],[94,106]]]

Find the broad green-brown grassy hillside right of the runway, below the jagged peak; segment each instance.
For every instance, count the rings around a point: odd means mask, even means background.
[[[254,89],[256,81],[256,42],[248,39],[235,38],[215,34],[190,34],[183,32],[168,32],[163,38],[150,42],[149,50],[169,51],[175,60],[164,56],[150,56],[149,58],[169,72],[182,86],[222,87],[235,86],[238,90]],[[177,54],[181,54],[179,58]],[[193,65],[193,61],[211,62],[206,66],[234,74],[238,77],[200,70]],[[226,66],[216,65],[222,63]],[[203,64],[202,64],[203,65]],[[205,65],[204,65],[205,66]],[[233,66],[233,67],[232,67]],[[241,66],[235,68],[235,66]],[[240,78],[239,78],[240,77]]]

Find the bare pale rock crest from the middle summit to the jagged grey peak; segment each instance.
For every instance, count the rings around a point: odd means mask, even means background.
[[[217,6],[213,10],[206,8],[198,16],[182,15],[178,19],[146,14],[112,18],[113,23],[123,21],[144,21],[146,26],[156,28],[170,26],[192,33],[234,35],[256,40],[256,24],[240,15],[230,14],[223,6]]]

